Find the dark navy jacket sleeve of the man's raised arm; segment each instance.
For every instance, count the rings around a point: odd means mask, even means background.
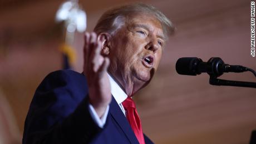
[[[101,132],[88,110],[85,76],[50,73],[38,86],[25,121],[23,144],[89,143]]]

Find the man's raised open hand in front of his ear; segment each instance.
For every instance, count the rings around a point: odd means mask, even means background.
[[[85,33],[83,72],[87,78],[90,103],[99,117],[104,115],[112,98],[107,77],[110,61],[102,56],[102,47],[103,42],[97,38],[96,33]]]

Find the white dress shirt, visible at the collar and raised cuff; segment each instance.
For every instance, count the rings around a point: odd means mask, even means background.
[[[127,95],[122,90],[122,88],[116,83],[116,81],[109,75],[109,73],[107,73],[107,76],[109,76],[110,80],[111,94],[115,98],[116,102],[118,103],[119,107],[125,115],[125,108],[124,106],[122,106],[122,102],[125,101]],[[109,113],[109,106],[107,106],[107,109],[101,118],[97,115],[96,111],[94,110],[91,104],[89,104],[89,111],[92,116],[92,119],[97,123],[99,127],[103,128],[106,123],[107,113]]]

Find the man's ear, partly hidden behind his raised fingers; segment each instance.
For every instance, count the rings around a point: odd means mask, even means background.
[[[101,49],[101,54],[103,56],[108,56],[110,53],[110,49],[111,49],[110,38],[111,38],[111,35],[106,32],[102,32],[98,36],[98,41],[102,42],[103,47]]]

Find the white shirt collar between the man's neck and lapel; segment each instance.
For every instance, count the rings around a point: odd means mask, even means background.
[[[122,103],[127,98],[126,93],[116,83],[116,81],[109,75],[109,73],[107,73],[107,76],[109,76],[109,80],[110,80],[111,94],[113,95],[113,97],[115,98],[118,104]]]

